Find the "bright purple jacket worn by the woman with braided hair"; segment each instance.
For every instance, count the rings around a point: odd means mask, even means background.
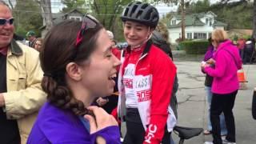
[[[38,114],[38,119],[34,123],[27,143],[94,144],[97,136],[102,136],[106,143],[121,143],[118,126],[108,126],[90,134],[78,116],[70,110],[62,110],[46,102]]]

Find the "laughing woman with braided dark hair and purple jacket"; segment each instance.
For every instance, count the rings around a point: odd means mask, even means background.
[[[50,30],[40,54],[48,101],[27,143],[121,143],[114,117],[90,106],[113,93],[121,62],[111,47],[106,30],[88,14],[83,22],[65,21]]]

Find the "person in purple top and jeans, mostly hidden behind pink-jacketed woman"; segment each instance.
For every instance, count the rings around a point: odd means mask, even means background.
[[[214,49],[214,46],[211,43],[211,38],[208,39],[210,45],[208,46],[208,49],[206,51],[205,57],[203,58],[203,62],[206,62],[208,64],[212,63],[211,66],[214,67],[214,60],[212,59],[214,56],[214,52],[216,51]],[[204,71],[202,71],[205,73]],[[205,90],[206,90],[206,98],[208,103],[208,123],[207,123],[207,130],[203,131],[203,134],[211,134],[212,132],[212,126],[210,122],[210,103],[213,96],[213,93],[211,92],[211,86],[213,83],[214,78],[211,77],[209,74],[206,74],[206,80],[205,80]],[[226,124],[225,124],[225,118],[224,114],[220,114],[220,124],[221,124],[221,135],[226,135]]]

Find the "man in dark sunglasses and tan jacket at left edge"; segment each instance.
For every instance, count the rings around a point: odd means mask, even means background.
[[[26,143],[38,109],[46,100],[41,90],[38,52],[14,36],[14,18],[0,0],[0,140]]]

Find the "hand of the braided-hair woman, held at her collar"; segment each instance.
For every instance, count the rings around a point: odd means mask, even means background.
[[[107,114],[105,110],[98,106],[89,106],[88,110],[93,111],[95,118],[86,114],[84,118],[86,118],[90,123],[90,134],[97,132],[98,130],[102,130],[107,126],[118,126],[118,122],[114,119],[114,117],[110,114]]]

